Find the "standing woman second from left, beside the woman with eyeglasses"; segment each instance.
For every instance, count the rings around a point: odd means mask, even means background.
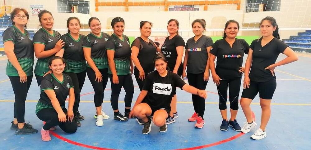
[[[42,77],[49,72],[48,61],[55,53],[64,46],[63,40],[60,38],[60,33],[53,30],[54,18],[51,12],[41,10],[38,14],[41,29],[39,29],[33,38],[35,48],[35,56],[38,58],[35,66],[35,76],[38,86],[41,83]]]

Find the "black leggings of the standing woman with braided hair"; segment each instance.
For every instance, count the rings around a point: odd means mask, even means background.
[[[131,74],[128,75],[118,75],[119,84],[113,84],[112,82],[112,74],[108,74],[111,82],[111,106],[113,110],[119,109],[118,100],[121,92],[121,88],[123,87],[125,90],[124,103],[125,107],[131,107],[133,94],[134,94],[134,85]]]

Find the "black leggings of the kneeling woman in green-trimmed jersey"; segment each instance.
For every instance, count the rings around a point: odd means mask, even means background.
[[[66,114],[67,109],[63,108],[63,112]],[[37,112],[37,116],[40,120],[45,121],[43,126],[44,130],[50,130],[53,126],[59,126],[66,133],[75,133],[77,131],[77,124],[75,121],[59,122],[58,113],[53,108],[44,108]]]

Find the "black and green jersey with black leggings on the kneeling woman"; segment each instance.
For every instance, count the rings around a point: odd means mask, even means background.
[[[59,126],[67,133],[74,133],[77,130],[77,125],[74,121],[58,121],[58,113],[54,109],[51,99],[44,92],[44,90],[53,90],[60,107],[66,114],[65,101],[71,88],[73,88],[71,77],[65,73],[63,73],[63,81],[59,81],[54,74],[48,74],[43,77],[40,86],[40,99],[36,106],[36,114],[40,120],[46,121],[43,126],[44,130],[49,130],[53,126]]]

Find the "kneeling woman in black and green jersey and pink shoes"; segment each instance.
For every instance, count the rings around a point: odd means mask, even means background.
[[[49,68],[53,73],[46,75],[41,81],[41,94],[36,108],[38,118],[46,122],[41,129],[43,141],[51,140],[49,131],[55,130],[57,125],[66,133],[77,131],[77,124],[72,121],[75,101],[73,83],[71,77],[63,73],[65,60],[54,56],[49,60]],[[68,95],[67,111],[65,101]]]

